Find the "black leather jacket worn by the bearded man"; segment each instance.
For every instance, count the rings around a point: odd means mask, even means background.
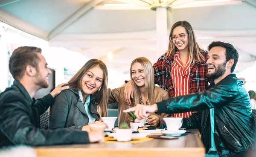
[[[158,112],[199,111],[183,119],[183,128],[199,128],[206,152],[211,146],[209,109],[214,108],[214,141],[218,155],[232,156],[253,149],[250,98],[241,80],[230,74],[209,90],[166,99],[157,103]]]

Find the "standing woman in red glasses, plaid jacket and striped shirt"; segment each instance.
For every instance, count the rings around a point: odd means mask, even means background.
[[[207,51],[196,42],[192,26],[187,21],[176,22],[170,31],[169,47],[154,64],[154,83],[169,93],[169,97],[186,95],[208,89]],[[131,83],[125,87],[125,100],[131,105]],[[173,117],[187,118],[192,112],[175,113]]]

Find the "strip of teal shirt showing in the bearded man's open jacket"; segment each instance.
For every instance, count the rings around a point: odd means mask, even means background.
[[[214,108],[210,109],[210,119],[211,119],[211,148],[206,155],[206,157],[218,157],[215,142],[214,142]]]

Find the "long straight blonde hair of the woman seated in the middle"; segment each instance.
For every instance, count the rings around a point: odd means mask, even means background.
[[[144,73],[145,73],[145,94],[144,97],[146,101],[148,102],[148,105],[151,105],[154,103],[154,69],[151,64],[151,62],[148,60],[148,58],[145,57],[138,57],[134,59],[134,61],[131,62],[131,67],[134,63],[140,63],[143,67]],[[137,104],[140,104],[140,87],[137,86],[137,84],[132,79],[132,73],[131,73],[131,67],[130,67],[130,76],[131,76],[131,85],[134,90],[134,99],[132,101],[131,106],[135,106]]]

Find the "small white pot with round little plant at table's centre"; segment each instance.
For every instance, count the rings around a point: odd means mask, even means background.
[[[128,127],[127,123],[121,123],[119,129],[116,129],[116,138],[117,141],[131,141],[131,128]]]

